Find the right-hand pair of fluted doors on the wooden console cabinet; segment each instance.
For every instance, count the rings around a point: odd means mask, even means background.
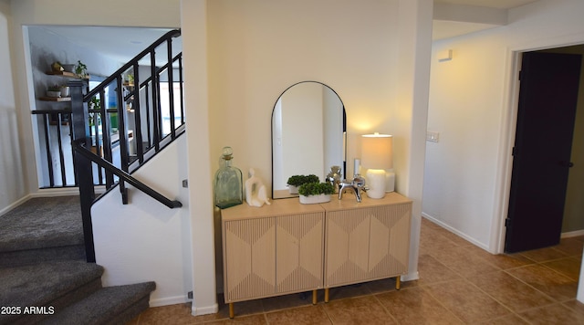
[[[408,270],[412,204],[327,211],[325,287]]]

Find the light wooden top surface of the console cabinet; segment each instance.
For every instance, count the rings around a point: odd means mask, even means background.
[[[324,204],[300,204],[298,198],[272,200],[271,204],[264,204],[262,207],[249,206],[244,203],[221,210],[221,217],[224,221],[230,221],[278,215],[324,213],[325,211],[359,209],[388,204],[407,204],[411,202],[412,200],[409,198],[395,192],[386,194],[382,199],[370,199],[363,195],[361,202],[357,202],[354,194],[346,193],[343,194],[342,200],[338,200],[335,194],[332,195],[330,202]]]

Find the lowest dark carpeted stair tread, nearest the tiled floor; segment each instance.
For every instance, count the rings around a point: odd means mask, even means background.
[[[101,288],[66,309],[56,310],[42,324],[125,324],[148,308],[155,288],[154,282]],[[120,319],[120,315],[124,317]]]

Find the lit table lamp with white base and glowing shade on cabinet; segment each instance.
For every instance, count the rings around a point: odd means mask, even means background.
[[[395,173],[386,172],[393,168],[391,147],[393,136],[388,134],[365,134],[361,137],[361,160],[367,167],[367,196],[381,199],[385,192],[393,192]]]

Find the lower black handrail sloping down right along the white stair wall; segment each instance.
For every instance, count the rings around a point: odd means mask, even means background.
[[[183,204],[180,201],[171,200],[171,199],[167,198],[166,196],[152,190],[152,188],[150,186],[146,185],[145,183],[141,183],[139,180],[132,177],[130,175],[130,173],[126,173],[126,172],[120,170],[119,168],[117,168],[113,164],[102,159],[101,157],[94,154],[93,152],[90,152],[85,147],[85,143],[83,141],[73,142],[73,148],[74,148],[75,152],[80,153],[82,156],[89,159],[91,162],[97,163],[99,165],[99,167],[102,167],[102,168],[106,169],[108,172],[115,174],[116,176],[120,177],[120,179],[122,179],[124,182],[130,183],[130,185],[141,190],[141,192],[150,195],[151,198],[153,198],[154,200],[170,207],[171,209],[183,206]]]

